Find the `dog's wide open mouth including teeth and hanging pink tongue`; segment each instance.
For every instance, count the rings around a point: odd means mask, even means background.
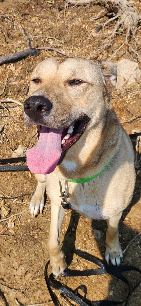
[[[27,151],[27,166],[35,174],[49,174],[63,159],[66,151],[83,134],[88,118],[77,120],[65,129],[38,125],[38,143]]]

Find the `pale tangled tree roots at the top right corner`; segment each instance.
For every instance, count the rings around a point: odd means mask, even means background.
[[[66,0],[66,2],[67,4],[72,4],[72,5],[87,5],[87,4],[96,2],[96,0]],[[137,38],[135,36],[136,31],[137,31],[137,25],[139,23],[139,20],[141,20],[141,15],[139,15],[135,11],[132,4],[129,3],[127,0],[109,0],[109,1],[101,0],[101,2],[103,6],[107,9],[107,11],[109,12],[109,15],[110,15],[110,11],[113,10],[113,8],[116,7],[117,9],[117,12],[114,14],[114,17],[110,18],[104,24],[101,24],[102,28],[104,28],[109,22],[112,22],[113,20],[117,20],[117,22],[116,22],[116,26],[112,34],[109,37],[109,41],[107,41],[107,43],[104,43],[98,50],[96,50],[94,54],[90,55],[88,58],[93,58],[96,55],[96,53],[98,53],[102,49],[107,49],[107,47],[111,46],[113,44],[113,40],[115,39],[117,35],[118,28],[122,26],[123,29],[126,30],[125,42],[122,43],[121,46],[118,47],[117,50],[115,50],[114,54],[112,54],[112,56],[110,57],[110,60],[111,58],[113,58],[113,56],[117,54],[117,52],[125,44],[127,44],[127,46],[131,49],[131,51],[136,54],[138,60],[141,60],[141,57],[139,56],[139,53],[136,50],[137,49]],[[101,13],[103,13],[103,10],[99,14],[97,14],[96,17],[92,18],[92,20],[101,18],[100,17]],[[133,48],[131,44],[129,43],[131,34],[133,35],[135,48]],[[98,35],[99,34],[96,34],[96,36]],[[107,33],[105,33],[105,37],[106,36],[107,36]]]

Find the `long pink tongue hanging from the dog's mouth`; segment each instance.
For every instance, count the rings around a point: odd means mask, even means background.
[[[49,129],[45,126],[38,144],[27,151],[27,166],[35,174],[49,174],[57,166],[61,153],[61,136],[63,129]]]

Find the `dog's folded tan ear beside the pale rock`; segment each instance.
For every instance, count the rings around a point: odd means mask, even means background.
[[[110,93],[117,83],[117,67],[112,62],[98,61],[97,64],[102,71],[107,90]]]

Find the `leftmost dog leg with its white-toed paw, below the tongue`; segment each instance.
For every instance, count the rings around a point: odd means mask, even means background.
[[[45,175],[43,174],[35,174],[35,177],[38,181],[37,188],[34,192],[34,195],[31,199],[29,210],[31,212],[32,217],[38,214],[38,211],[42,212],[44,207],[44,200],[45,200]]]

